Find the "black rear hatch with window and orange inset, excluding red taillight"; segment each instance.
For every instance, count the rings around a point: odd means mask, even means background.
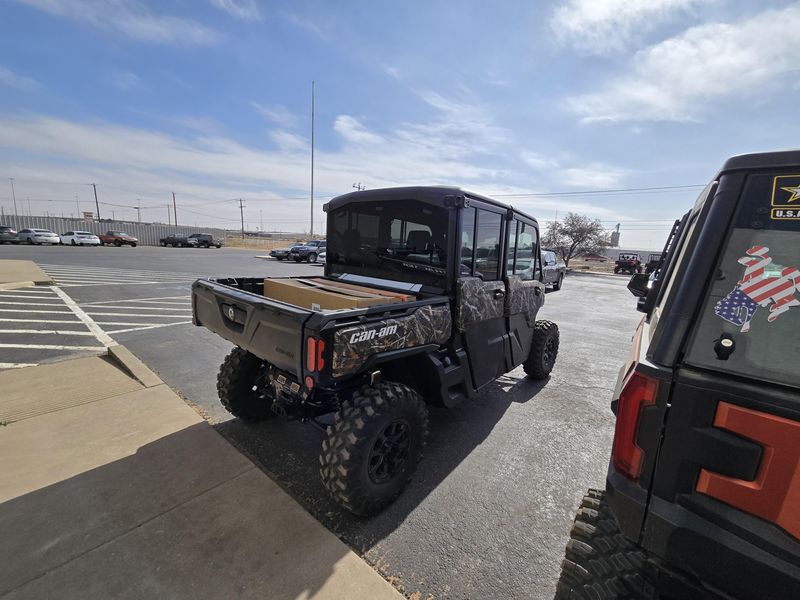
[[[686,335],[642,545],[737,598],[800,597],[800,219],[773,208],[798,187],[723,175],[662,317]]]

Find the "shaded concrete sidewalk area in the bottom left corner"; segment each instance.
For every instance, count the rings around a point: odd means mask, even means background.
[[[3,502],[0,532],[9,599],[339,598],[369,571],[205,423]]]

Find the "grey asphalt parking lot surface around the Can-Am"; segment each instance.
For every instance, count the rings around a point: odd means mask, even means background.
[[[640,316],[625,289],[627,278],[573,275],[562,291],[548,294],[541,318],[561,329],[551,378],[534,384],[516,369],[474,402],[432,409],[429,444],[409,488],[380,515],[361,519],[339,509],[319,482],[319,431],[280,421],[246,425],[219,406],[216,373],[230,344],[189,322],[191,281],[321,272],[316,265],[264,261],[254,254],[230,248],[0,246],[0,258],[42,266],[78,312],[141,358],[407,595],[552,598],[575,507],[586,488],[602,486],[605,477],[611,391]],[[0,303],[9,311],[0,313],[8,319],[0,327],[0,363],[45,362],[93,351],[74,346],[98,345],[96,336],[70,337],[70,331],[86,328],[58,292],[44,288],[41,295],[36,303],[0,298],[13,303]],[[65,315],[40,319],[54,313],[34,314],[38,303],[61,303],[41,310]],[[42,332],[6,332],[15,328]]]

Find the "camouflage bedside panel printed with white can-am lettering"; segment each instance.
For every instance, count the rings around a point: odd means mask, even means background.
[[[345,327],[333,337],[333,377],[358,372],[379,352],[444,344],[452,333],[450,305],[422,306],[413,314]]]

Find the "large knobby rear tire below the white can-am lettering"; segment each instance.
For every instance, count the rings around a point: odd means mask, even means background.
[[[386,432],[398,423],[407,428],[405,459],[388,479],[379,480],[374,471],[384,463],[375,462],[375,453],[380,454]],[[365,385],[342,403],[328,427],[319,457],[322,483],[350,512],[374,514],[403,491],[422,457],[427,436],[428,408],[419,394],[389,381]]]

